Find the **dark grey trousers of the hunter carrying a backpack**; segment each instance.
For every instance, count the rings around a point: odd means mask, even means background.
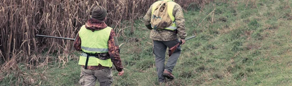
[[[174,66],[176,65],[176,62],[178,58],[181,55],[181,46],[177,47],[177,49],[173,52],[173,54],[169,57],[167,60],[166,65],[164,66],[165,62],[165,52],[167,47],[171,48],[175,46],[177,43],[179,43],[179,40],[173,40],[173,41],[154,41],[153,46],[153,53],[155,55],[155,65],[156,65],[156,71],[158,75],[158,81],[164,81],[164,76],[162,75],[164,70],[168,72],[172,72]]]

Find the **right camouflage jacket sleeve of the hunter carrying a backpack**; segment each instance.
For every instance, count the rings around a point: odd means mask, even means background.
[[[179,37],[181,39],[185,39],[186,32],[185,32],[185,26],[184,26],[183,8],[179,4],[176,4],[174,6],[173,15],[175,17],[175,22],[177,25]]]

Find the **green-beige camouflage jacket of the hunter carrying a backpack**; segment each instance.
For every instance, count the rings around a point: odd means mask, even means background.
[[[151,28],[151,24],[150,24],[152,6],[153,6],[153,4],[148,9],[146,15],[143,17],[145,26],[150,30],[152,29]],[[172,40],[178,39],[178,36],[181,39],[185,39],[186,32],[185,32],[185,26],[184,26],[184,17],[183,17],[183,9],[182,9],[182,7],[179,4],[176,3],[174,5],[172,14],[175,17],[175,22],[176,22],[176,25],[177,25],[177,30],[178,30],[178,34],[179,35],[177,35],[176,33],[170,32],[170,31],[166,31],[166,30],[152,29],[150,31],[150,38],[152,40],[155,40],[155,41],[172,41]]]

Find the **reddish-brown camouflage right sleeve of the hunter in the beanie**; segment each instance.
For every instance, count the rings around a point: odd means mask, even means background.
[[[121,57],[120,57],[120,52],[119,52],[119,44],[118,41],[116,39],[116,35],[113,31],[113,29],[111,29],[110,31],[110,38],[108,41],[108,45],[109,45],[109,54],[110,54],[110,60],[113,63],[113,65],[116,67],[116,70],[118,72],[122,72],[123,71],[123,66],[122,66],[122,61],[121,61]]]

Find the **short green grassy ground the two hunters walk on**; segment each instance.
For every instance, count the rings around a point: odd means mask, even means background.
[[[292,1],[231,0],[195,5],[184,12],[187,35],[197,37],[182,45],[182,55],[165,86],[289,86],[292,85]],[[127,22],[124,22],[127,23]],[[152,40],[142,19],[134,34],[119,38],[123,76],[113,70],[113,86],[157,86]],[[51,63],[28,71],[34,85],[78,86],[80,52],[66,64]],[[168,56],[166,57],[168,58]],[[13,85],[13,76],[0,86]],[[21,84],[19,84],[21,85]],[[97,84],[98,85],[98,84]]]

